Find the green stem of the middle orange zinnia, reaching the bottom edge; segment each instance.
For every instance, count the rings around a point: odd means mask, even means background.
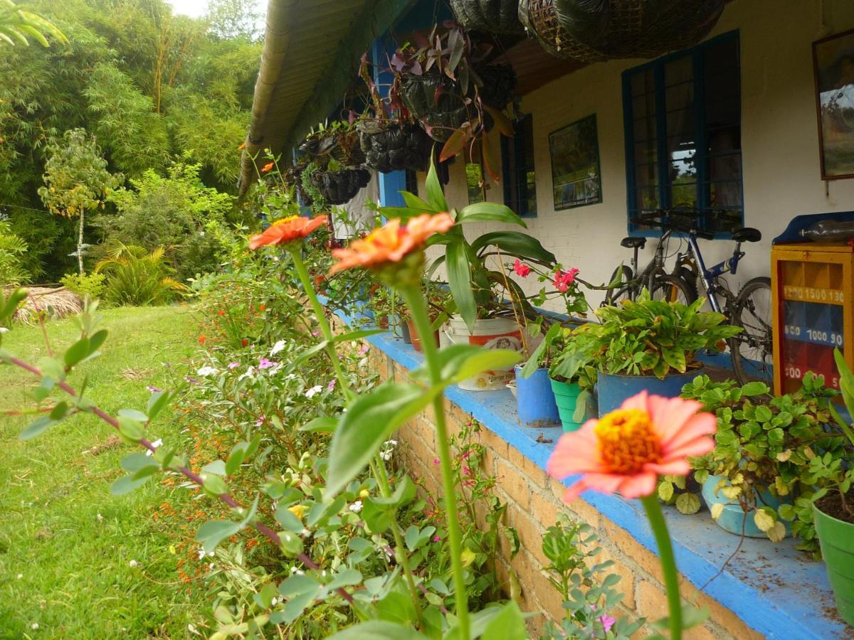
[[[424,298],[421,289],[417,286],[401,288],[403,300],[409,307],[412,323],[418,330],[421,338],[421,346],[424,349],[424,358],[430,369],[430,381],[433,384],[441,381],[442,371],[439,364],[438,349],[433,341],[430,317],[424,306]],[[465,591],[465,569],[463,567],[462,535],[459,532],[459,515],[457,514],[456,487],[453,483],[453,466],[451,461],[451,447],[448,445],[447,427],[445,426],[445,408],[442,404],[442,394],[433,400],[433,410],[436,414],[436,434],[438,437],[439,463],[442,468],[442,490],[445,493],[445,511],[447,517],[447,542],[451,549],[451,567],[453,569],[453,591],[457,601],[457,619],[459,620],[459,639],[469,640],[471,637],[468,594]]]

